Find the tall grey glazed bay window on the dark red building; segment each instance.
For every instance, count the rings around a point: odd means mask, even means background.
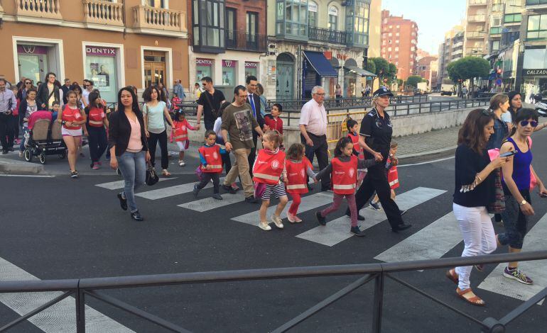
[[[224,0],[193,1],[193,38],[196,47],[224,47]]]

